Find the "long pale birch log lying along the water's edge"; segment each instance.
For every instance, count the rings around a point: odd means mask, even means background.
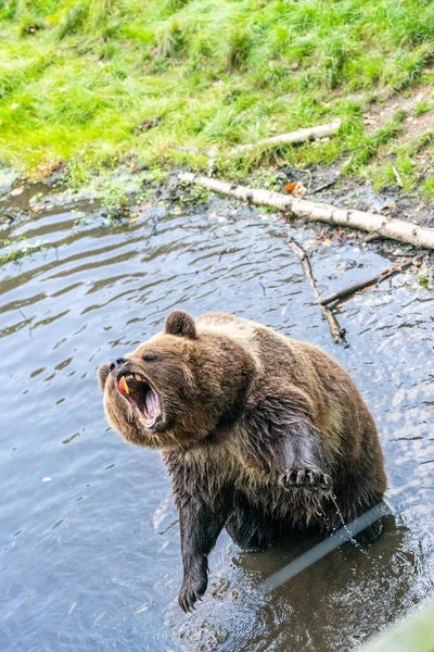
[[[417,226],[403,220],[353,209],[337,209],[332,204],[297,199],[281,192],[246,188],[214,178],[195,176],[190,172],[181,173],[179,179],[187,184],[197,184],[216,192],[238,197],[254,204],[272,206],[284,213],[305,217],[309,222],[326,222],[369,233],[375,231],[383,238],[399,240],[423,249],[434,249],[434,228]]]

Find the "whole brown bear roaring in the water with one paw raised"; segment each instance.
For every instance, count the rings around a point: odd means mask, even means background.
[[[159,449],[179,511],[183,581],[193,607],[226,527],[243,550],[291,528],[323,534],[382,500],[374,421],[348,374],[316,347],[247,319],[177,310],[164,331],[99,368],[112,426]],[[365,530],[365,541],[381,530]]]

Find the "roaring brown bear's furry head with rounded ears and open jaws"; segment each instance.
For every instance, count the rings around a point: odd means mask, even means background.
[[[164,331],[98,369],[108,422],[127,441],[169,449],[237,418],[255,366],[231,338],[197,334],[177,310]]]

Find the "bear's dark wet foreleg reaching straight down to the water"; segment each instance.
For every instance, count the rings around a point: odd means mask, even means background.
[[[205,502],[200,496],[178,497],[183,580],[178,602],[184,612],[206,591],[208,554],[225,526],[227,512],[222,505]]]

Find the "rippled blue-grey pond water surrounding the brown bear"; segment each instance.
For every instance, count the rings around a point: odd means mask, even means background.
[[[344,349],[270,215],[215,200],[202,214],[153,208],[107,226],[81,204],[77,226],[77,206],[40,205],[3,231],[56,247],[1,268],[2,652],[342,652],[434,593],[432,292],[407,275],[343,303]],[[309,244],[316,231],[293,234]],[[312,265],[330,292],[391,263],[334,237]],[[204,601],[181,612],[169,479],[157,453],[107,427],[95,378],[175,306],[260,321],[349,371],[397,512],[369,554],[346,543],[266,595],[260,581],[319,539],[244,554],[222,534]]]

